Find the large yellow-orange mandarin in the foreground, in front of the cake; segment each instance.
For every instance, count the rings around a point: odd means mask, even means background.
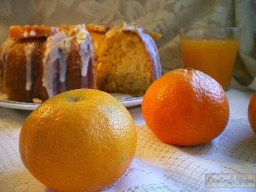
[[[128,169],[136,142],[133,119],[118,100],[80,89],[52,97],[27,117],[20,155],[30,173],[51,189],[98,191]]]

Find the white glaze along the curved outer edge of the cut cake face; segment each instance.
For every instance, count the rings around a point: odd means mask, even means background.
[[[139,38],[141,38],[141,41],[144,43],[144,47],[146,48],[151,58],[152,74],[153,74],[152,81],[156,80],[158,77],[162,75],[161,63],[160,63],[160,58],[158,55],[156,43],[154,42],[151,36],[149,36],[146,32],[143,31],[143,28],[137,26],[135,23],[126,24],[125,22],[123,22],[118,27],[114,27],[110,29],[105,36],[109,38],[114,35],[115,31],[119,31],[119,32],[131,31],[136,33],[139,36]]]

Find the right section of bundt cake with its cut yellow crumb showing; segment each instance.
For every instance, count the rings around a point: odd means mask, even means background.
[[[119,26],[89,24],[92,37],[96,86],[106,92],[139,96],[161,76],[161,65],[154,38],[136,24]]]

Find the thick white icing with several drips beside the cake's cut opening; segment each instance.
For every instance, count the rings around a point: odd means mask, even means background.
[[[81,58],[81,76],[87,76],[90,58],[93,58],[93,48],[85,24],[66,27],[62,26],[59,32],[47,38],[46,50],[43,58],[44,75],[42,78],[49,97],[54,96],[55,65],[59,61],[61,92],[66,91],[66,58],[71,49],[71,41],[75,40]],[[56,46],[57,45],[57,46]],[[79,64],[79,63],[78,63]],[[81,80],[81,85],[84,85]]]

